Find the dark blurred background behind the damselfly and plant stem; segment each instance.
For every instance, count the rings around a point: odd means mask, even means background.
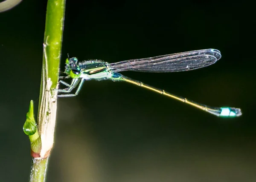
[[[0,13],[1,182],[29,178],[22,127],[29,101],[38,105],[46,6],[24,0]],[[125,82],[85,82],[58,100],[47,182],[255,182],[254,12],[246,1],[67,0],[62,71],[67,54],[114,63],[217,48],[222,58],[207,68],[122,74],[243,115],[218,118]]]

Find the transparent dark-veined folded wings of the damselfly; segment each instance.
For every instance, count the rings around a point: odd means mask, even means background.
[[[217,49],[188,51],[177,54],[127,60],[109,64],[112,71],[175,72],[202,68],[221,58]]]

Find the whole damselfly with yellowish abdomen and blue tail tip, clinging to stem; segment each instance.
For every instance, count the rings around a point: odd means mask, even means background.
[[[135,59],[121,61],[117,63],[107,63],[102,60],[86,60],[78,62],[76,57],[67,58],[64,73],[67,77],[72,78],[71,84],[60,80],[59,83],[67,86],[65,89],[59,89],[58,92],[65,94],[58,95],[58,97],[72,97],[76,96],[81,90],[84,80],[113,80],[125,81],[148,88],[159,94],[171,97],[181,102],[192,105],[210,114],[220,117],[237,117],[241,116],[241,109],[230,107],[209,107],[207,105],[199,104],[184,97],[178,97],[170,94],[162,89],[154,88],[146,85],[143,82],[133,80],[118,73],[121,71],[142,71],[142,72],[175,72],[175,71],[188,71],[197,68],[202,68],[215,63],[221,58],[220,51],[216,49],[204,49],[198,51],[188,51],[177,54],[168,54],[157,57],[150,57],[144,59]],[[70,94],[74,88],[77,88],[75,94]]]

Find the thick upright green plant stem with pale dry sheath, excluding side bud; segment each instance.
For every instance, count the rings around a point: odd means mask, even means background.
[[[48,0],[44,32],[40,102],[38,107],[38,133],[41,137],[39,157],[33,158],[30,182],[44,182],[47,161],[54,142],[57,111],[59,63],[64,27],[65,0]],[[32,156],[36,156],[33,155]]]

